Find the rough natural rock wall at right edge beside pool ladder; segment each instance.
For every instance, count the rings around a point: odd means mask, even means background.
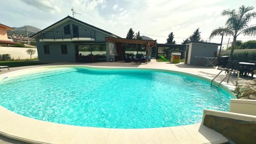
[[[256,100],[256,79],[238,81],[234,93],[238,99]]]

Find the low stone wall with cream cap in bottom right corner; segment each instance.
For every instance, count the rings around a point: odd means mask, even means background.
[[[235,143],[256,141],[256,116],[204,109],[202,123]]]

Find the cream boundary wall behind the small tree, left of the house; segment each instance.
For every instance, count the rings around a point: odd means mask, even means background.
[[[37,58],[36,48],[27,48],[27,47],[3,47],[0,46],[0,54],[10,54],[11,59],[14,60],[25,60],[30,59],[30,55],[26,52],[28,49],[35,50],[35,54],[32,55],[32,59]]]

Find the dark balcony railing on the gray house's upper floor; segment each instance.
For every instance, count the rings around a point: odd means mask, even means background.
[[[66,32],[66,33],[65,33]],[[39,41],[94,41],[95,31],[88,29],[78,29],[70,31],[43,31],[38,34]]]

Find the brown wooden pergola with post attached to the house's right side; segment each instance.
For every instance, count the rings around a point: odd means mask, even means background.
[[[106,37],[105,40],[111,43],[129,43],[129,44],[146,45],[146,51],[147,51],[146,61],[148,61],[148,54],[151,53],[151,47],[156,45],[156,40],[113,38],[113,37]]]

